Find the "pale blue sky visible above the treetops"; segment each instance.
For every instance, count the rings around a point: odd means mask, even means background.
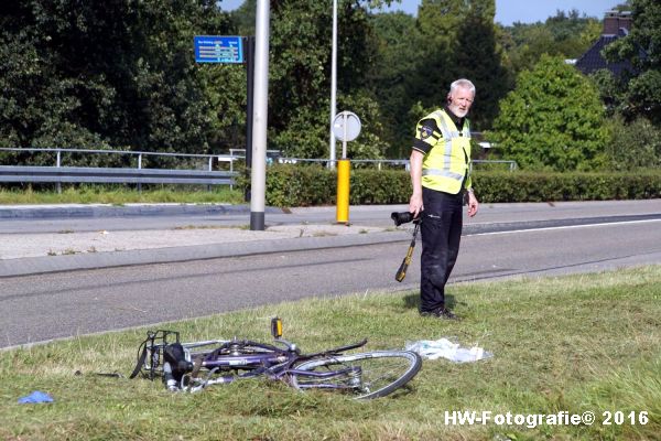
[[[310,0],[318,1],[318,0]],[[332,1],[327,0],[332,6]],[[241,6],[243,0],[221,0],[220,7],[225,10],[234,10]],[[624,0],[496,0],[496,21],[503,25],[511,25],[513,22],[534,23],[545,21],[549,17],[555,15],[557,10],[568,12],[572,9],[578,11],[581,15],[603,19],[604,13],[609,11]],[[418,14],[420,0],[401,0],[393,4],[390,10],[400,10],[410,14]]]

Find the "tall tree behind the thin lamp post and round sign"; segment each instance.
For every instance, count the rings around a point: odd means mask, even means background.
[[[347,110],[369,121],[378,115],[378,105],[361,89],[376,56],[376,40],[364,3],[338,2],[337,94],[338,104],[357,106]],[[324,2],[292,0],[273,2],[271,13],[270,49],[277,55],[270,64],[270,147],[288,155],[328,158],[333,10]],[[359,140],[376,137],[375,142],[370,149],[353,142],[354,158],[382,158],[386,144],[377,141],[378,125],[372,122],[365,125]]]

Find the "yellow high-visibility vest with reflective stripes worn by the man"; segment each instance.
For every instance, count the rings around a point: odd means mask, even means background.
[[[464,120],[462,131],[457,130],[444,109],[436,110],[424,119],[433,119],[443,135],[422,161],[422,186],[441,192],[457,194],[464,186],[470,189],[470,123]],[[419,123],[420,126],[420,123]]]

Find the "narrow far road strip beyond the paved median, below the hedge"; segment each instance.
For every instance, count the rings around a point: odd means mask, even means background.
[[[55,209],[25,209],[0,207],[0,234],[28,234],[28,233],[57,233],[98,232],[107,230],[134,230],[134,229],[170,229],[184,226],[208,227],[245,227],[249,225],[249,206],[235,206],[225,213],[205,213],[204,206],[192,206],[185,213],[176,211],[177,204],[171,206],[174,213],[169,213],[167,206],[124,206],[100,207],[99,213],[76,213],[76,207],[55,206]],[[101,209],[102,208],[102,209]],[[128,208],[134,208],[133,211]],[[153,209],[147,209],[153,208]],[[349,219],[354,225],[392,226],[390,213],[403,212],[405,205],[375,205],[351,206]],[[80,211],[91,211],[83,206]],[[292,208],[281,211],[270,208],[266,214],[267,225],[296,225],[296,224],[329,224],[335,220],[335,207]],[[22,212],[36,212],[25,215]],[[140,215],[130,215],[131,212]],[[145,215],[144,212],[151,213]],[[177,212],[180,212],[177,214]],[[77,216],[76,214],[79,214]],[[91,215],[89,215],[91,214]],[[479,214],[473,219],[466,219],[466,227],[472,228],[494,226],[499,224],[527,223],[529,226],[540,226],[540,223],[550,223],[559,219],[613,218],[614,216],[629,217],[633,215],[659,217],[661,215],[661,200],[651,201],[592,201],[561,202],[561,203],[513,203],[513,204],[481,204]]]

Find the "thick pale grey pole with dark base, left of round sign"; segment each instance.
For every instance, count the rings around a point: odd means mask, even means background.
[[[267,122],[269,110],[269,0],[257,0],[254,25],[254,101],[252,106],[252,174],[250,229],[264,229]]]

